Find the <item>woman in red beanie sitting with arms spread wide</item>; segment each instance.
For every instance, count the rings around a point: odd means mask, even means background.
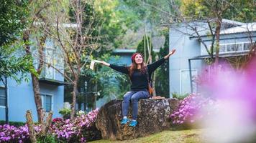
[[[146,65],[143,62],[143,56],[140,53],[132,54],[132,64],[130,66],[117,66],[114,64],[106,63],[101,61],[101,64],[105,66],[110,66],[111,69],[120,71],[124,74],[129,74],[130,80],[132,82],[131,90],[124,94],[124,99],[122,102],[122,115],[123,119],[121,124],[127,124],[130,122],[130,127],[136,127],[137,125],[137,113],[138,113],[138,101],[139,99],[147,99],[150,97],[148,92],[148,78],[150,79],[151,74],[157,67],[165,62],[175,52],[175,49],[170,51],[168,55],[164,58],[155,61],[152,64]],[[129,102],[132,101],[132,120],[127,118],[129,110]]]

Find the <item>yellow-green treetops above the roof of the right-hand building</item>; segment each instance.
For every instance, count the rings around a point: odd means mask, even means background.
[[[212,19],[218,13],[222,19],[242,22],[256,20],[254,0],[183,0],[180,9],[190,19]]]

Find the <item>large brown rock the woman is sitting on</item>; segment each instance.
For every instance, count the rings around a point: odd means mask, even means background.
[[[137,127],[121,125],[122,100],[112,100],[101,107],[96,127],[104,139],[134,139],[170,129],[170,114],[178,107],[178,99],[140,99],[138,104]],[[132,118],[132,106],[129,116]]]

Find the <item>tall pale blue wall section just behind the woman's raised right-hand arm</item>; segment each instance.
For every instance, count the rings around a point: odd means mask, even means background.
[[[186,94],[190,92],[188,59],[201,54],[200,43],[196,39],[189,39],[188,35],[180,31],[186,33],[191,32],[186,27],[176,27],[169,31],[169,51],[176,49],[175,54],[170,56],[169,59],[170,97],[173,97],[173,93]],[[201,60],[191,61],[191,67],[195,70],[195,73],[200,71],[201,64]]]

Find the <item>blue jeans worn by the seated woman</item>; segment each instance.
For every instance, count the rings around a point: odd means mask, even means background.
[[[129,91],[124,94],[124,99],[122,102],[122,114],[123,117],[127,116],[129,110],[129,103],[132,101],[132,119],[137,120],[138,114],[138,101],[139,99],[147,99],[149,93],[147,89],[142,89],[140,91]]]

